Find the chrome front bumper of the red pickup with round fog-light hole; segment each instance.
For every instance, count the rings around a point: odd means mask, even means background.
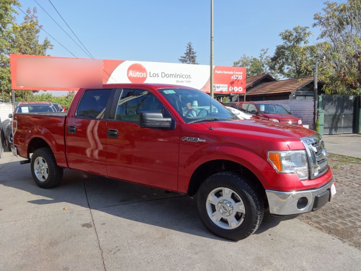
[[[331,180],[321,188],[301,191],[281,192],[266,190],[270,213],[274,215],[296,215],[317,210],[326,204],[324,203],[324,199],[327,198],[326,191],[331,190],[333,183],[334,181]],[[328,195],[329,199],[327,201],[330,201],[332,198],[331,191]],[[317,202],[315,204],[316,198]]]

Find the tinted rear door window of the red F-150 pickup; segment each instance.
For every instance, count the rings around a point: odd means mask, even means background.
[[[111,91],[111,89],[85,91],[79,102],[77,117],[103,119],[105,106]]]

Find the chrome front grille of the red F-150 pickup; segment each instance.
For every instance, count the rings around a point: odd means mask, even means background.
[[[300,138],[305,146],[310,171],[310,179],[321,176],[328,169],[325,143],[319,133]]]

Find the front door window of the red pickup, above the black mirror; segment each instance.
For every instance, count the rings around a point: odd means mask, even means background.
[[[140,112],[162,112],[162,104],[148,91],[124,89],[119,99],[115,119],[139,122]]]

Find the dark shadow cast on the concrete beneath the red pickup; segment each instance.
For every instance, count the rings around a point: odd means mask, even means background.
[[[196,199],[187,195],[165,193],[162,189],[70,169],[64,171],[64,178],[56,188],[42,189],[32,180],[30,164],[19,167],[18,163],[10,162],[1,169],[0,184],[36,195],[38,199],[27,201],[31,204],[64,202],[67,206],[78,205],[139,223],[228,241],[207,231],[199,219]],[[19,170],[10,171],[9,166]],[[46,212],[47,209],[44,208],[43,211]],[[255,234],[277,226],[280,221],[280,218],[270,216],[266,212]],[[95,219],[95,227],[97,223],[100,224],[101,221]]]

